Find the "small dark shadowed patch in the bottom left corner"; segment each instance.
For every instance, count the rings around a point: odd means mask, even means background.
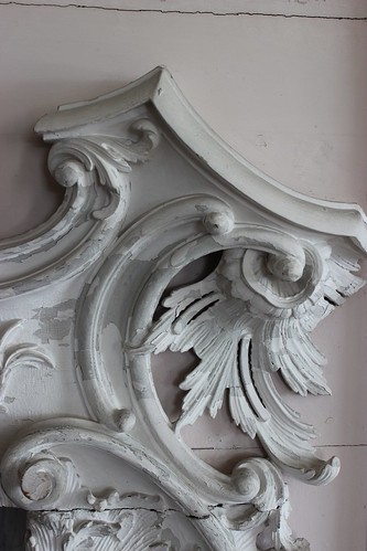
[[[26,511],[0,508],[0,551],[24,551]]]

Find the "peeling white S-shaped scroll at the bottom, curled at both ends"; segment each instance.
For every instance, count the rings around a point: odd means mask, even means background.
[[[230,494],[223,494],[220,506],[216,502],[211,505],[196,488],[176,477],[165,463],[150,455],[138,442],[117,437],[116,433],[102,430],[96,423],[66,417],[34,423],[7,451],[1,460],[1,485],[12,502],[31,511],[54,510],[64,494],[73,494],[80,488],[72,460],[55,455],[57,446],[63,444],[84,445],[112,454],[152,477],[159,487],[171,495],[177,510],[188,516],[214,550],[236,549],[233,530],[257,528],[261,541],[273,538],[282,543],[287,538],[290,542],[294,541],[287,523],[287,485],[277,467],[267,459],[240,462],[229,477]],[[129,498],[132,497],[129,495]],[[98,499],[89,491],[87,500],[97,511],[106,508],[115,510],[114,505],[120,504],[116,492],[106,499]],[[244,511],[246,505],[249,507]],[[237,506],[239,516],[236,516]],[[279,522],[273,526],[273,515],[284,508]],[[268,548],[261,544],[259,549]],[[279,549],[291,550],[292,547]]]

